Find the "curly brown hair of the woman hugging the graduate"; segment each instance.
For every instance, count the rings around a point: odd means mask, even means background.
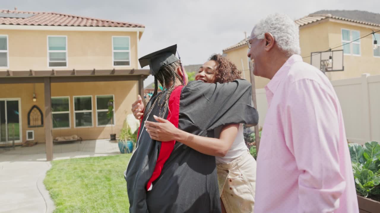
[[[227,83],[241,78],[241,70],[238,70],[234,63],[222,55],[212,55],[209,60],[215,61],[217,63],[215,70],[216,82]]]

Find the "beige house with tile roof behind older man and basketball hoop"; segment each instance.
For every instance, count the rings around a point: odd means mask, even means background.
[[[310,53],[328,50],[380,30],[380,14],[366,11],[318,11],[295,20],[299,26],[301,55],[310,63]],[[330,80],[360,77],[363,73],[380,74],[380,48],[373,49],[374,40],[380,43],[380,32],[335,50],[344,50],[344,71],[326,72]],[[227,58],[241,69],[241,59],[247,63],[245,40],[223,50]],[[244,69],[247,65],[244,64]],[[255,78],[256,88],[263,88],[267,79]]]

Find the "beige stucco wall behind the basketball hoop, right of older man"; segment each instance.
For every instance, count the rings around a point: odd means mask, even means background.
[[[301,55],[309,56],[311,52],[325,51],[330,47],[342,45],[342,29],[358,30],[361,36],[372,32],[370,28],[332,21],[307,25],[302,27],[299,32]],[[361,39],[360,42],[361,56],[344,55],[344,71],[327,72],[326,76],[330,80],[357,78],[363,73],[380,74],[380,58],[374,57],[372,36],[367,36]],[[334,50],[341,49],[343,47]],[[310,63],[310,57],[304,58],[304,61]]]

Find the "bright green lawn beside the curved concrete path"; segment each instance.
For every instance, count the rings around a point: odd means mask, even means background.
[[[54,213],[119,213],[129,208],[123,172],[131,154],[52,161],[44,184]]]

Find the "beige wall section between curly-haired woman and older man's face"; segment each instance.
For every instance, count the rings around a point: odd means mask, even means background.
[[[226,58],[231,60],[239,70],[244,70],[244,74],[242,73],[242,77],[250,81],[250,73],[249,73],[249,65],[248,65],[248,47],[247,45],[243,45],[241,47],[237,47],[228,51],[223,52],[226,54]],[[243,60],[243,64],[241,63]],[[243,67],[244,66],[244,67]],[[263,77],[255,76],[255,86],[256,89],[264,88],[269,82],[268,79]]]

